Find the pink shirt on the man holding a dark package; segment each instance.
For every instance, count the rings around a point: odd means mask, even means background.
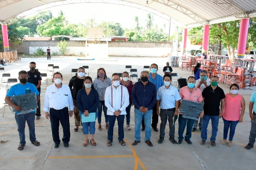
[[[185,86],[179,90],[179,95],[181,96],[181,99],[186,99],[193,102],[203,101],[202,92],[198,88],[194,88],[193,92],[190,93],[189,88]]]

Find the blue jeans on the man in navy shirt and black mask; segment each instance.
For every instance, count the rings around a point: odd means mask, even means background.
[[[144,117],[145,123],[145,141],[150,140],[151,137],[151,117],[152,117],[152,110],[147,111],[146,113],[142,113],[138,109],[134,107],[134,119],[135,119],[135,135],[134,138],[137,141],[141,141],[141,122],[142,117]]]

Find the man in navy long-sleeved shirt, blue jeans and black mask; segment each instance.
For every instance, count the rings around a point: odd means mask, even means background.
[[[157,101],[157,89],[155,85],[149,82],[149,73],[146,71],[141,72],[141,81],[134,84],[131,91],[131,98],[134,103],[134,117],[135,117],[135,141],[133,146],[141,142],[141,122],[144,117],[146,131],[145,142],[148,146],[153,146],[150,142],[151,137],[151,116],[152,109]]]

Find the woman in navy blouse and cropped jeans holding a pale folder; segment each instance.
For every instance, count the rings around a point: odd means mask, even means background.
[[[80,117],[82,117],[82,114],[87,117],[90,113],[96,113],[97,107],[99,105],[99,94],[97,90],[94,89],[93,80],[91,80],[91,77],[85,77],[85,80],[83,81],[83,86],[85,88],[79,90],[79,92],[77,93],[77,106],[79,109]],[[96,146],[96,142],[94,141],[95,121],[83,123],[83,134],[85,135],[85,141],[83,142],[83,146],[87,146],[89,142],[89,127],[90,142],[93,146]]]

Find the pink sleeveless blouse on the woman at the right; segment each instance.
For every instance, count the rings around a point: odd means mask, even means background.
[[[223,118],[227,121],[238,121],[242,107],[242,96],[238,94],[235,97],[231,97],[229,93],[225,94],[225,96],[225,107],[222,115]]]

